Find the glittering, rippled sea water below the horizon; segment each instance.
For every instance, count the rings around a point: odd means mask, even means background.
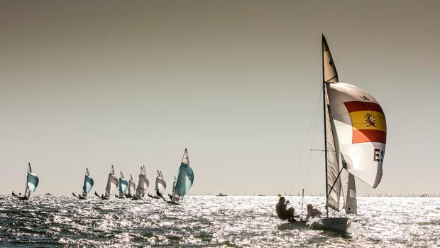
[[[0,195],[0,247],[440,247],[440,198],[358,198],[346,233],[283,228],[275,196]],[[288,197],[300,213],[301,198]],[[322,197],[305,197],[324,212]],[[331,216],[344,216],[331,212]]]

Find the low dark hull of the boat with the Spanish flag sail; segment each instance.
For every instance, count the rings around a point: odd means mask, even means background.
[[[327,230],[332,232],[347,232],[351,225],[351,220],[347,217],[330,217],[321,218],[314,222],[308,220],[289,222],[279,226],[281,230],[297,229],[297,228],[312,228],[314,230]]]

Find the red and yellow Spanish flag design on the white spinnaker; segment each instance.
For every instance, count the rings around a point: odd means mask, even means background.
[[[374,102],[344,102],[353,126],[353,144],[387,142],[387,122],[382,107]]]

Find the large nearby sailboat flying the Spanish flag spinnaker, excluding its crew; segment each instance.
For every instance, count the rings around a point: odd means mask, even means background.
[[[339,82],[329,45],[322,36],[326,217],[321,228],[346,231],[348,217],[329,217],[329,208],[357,213],[355,177],[371,188],[382,179],[387,124],[378,101],[365,90]]]

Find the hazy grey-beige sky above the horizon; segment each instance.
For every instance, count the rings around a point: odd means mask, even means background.
[[[440,1],[0,1],[0,193],[104,191],[111,164],[190,193],[289,193],[321,97],[339,80],[387,117],[383,179],[358,194],[440,193]],[[312,148],[322,149],[322,109]],[[310,141],[311,139],[309,139]],[[306,153],[292,193],[325,190]],[[307,169],[309,176],[307,177]],[[170,190],[170,187],[168,188]]]

